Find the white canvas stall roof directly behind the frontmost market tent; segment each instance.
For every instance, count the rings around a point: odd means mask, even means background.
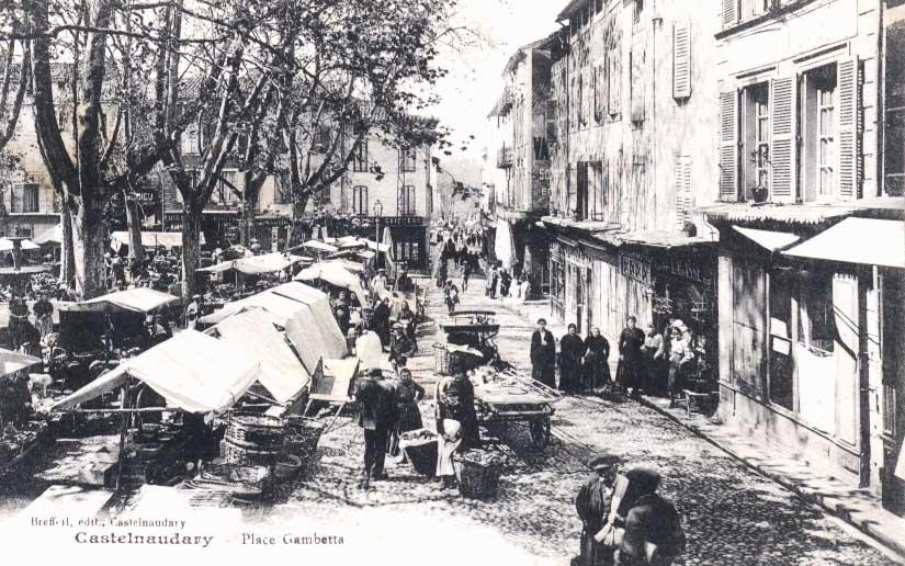
[[[214,328],[226,343],[261,360],[257,380],[278,403],[289,401],[310,382],[308,372],[260,309],[229,317]]]

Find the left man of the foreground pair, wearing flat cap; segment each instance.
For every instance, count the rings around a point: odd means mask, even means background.
[[[619,457],[601,454],[588,462],[593,469],[591,476],[575,497],[575,509],[581,519],[580,566],[602,566],[613,564],[613,550],[598,543],[593,535],[607,522],[612,503],[613,484],[619,473]],[[573,564],[576,562],[573,561]]]

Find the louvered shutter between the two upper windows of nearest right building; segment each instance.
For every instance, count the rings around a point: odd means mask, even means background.
[[[770,83],[770,196],[773,202],[795,202],[795,102],[794,77]]]

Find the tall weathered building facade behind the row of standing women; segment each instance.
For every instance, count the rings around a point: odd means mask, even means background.
[[[708,2],[570,2],[552,48],[551,309],[619,336],[627,316],[714,333],[716,84]],[[715,343],[712,340],[711,343]],[[711,353],[711,355],[713,355]]]

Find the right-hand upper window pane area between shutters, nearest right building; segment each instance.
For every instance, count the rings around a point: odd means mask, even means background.
[[[803,75],[803,197],[806,202],[836,194],[836,65]]]

